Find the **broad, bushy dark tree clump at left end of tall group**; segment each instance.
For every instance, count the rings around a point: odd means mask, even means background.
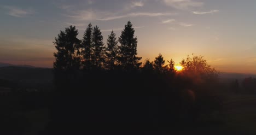
[[[54,62],[55,71],[68,71],[79,69],[79,44],[80,40],[77,38],[78,30],[75,26],[69,26],[65,28],[65,31],[60,31],[58,37],[55,38],[55,48],[57,52],[54,52],[56,61]]]

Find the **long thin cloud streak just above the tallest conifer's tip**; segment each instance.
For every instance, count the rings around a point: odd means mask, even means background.
[[[130,14],[126,14],[126,15],[104,17],[104,18],[97,19],[97,20],[109,21],[109,20],[115,20],[115,19],[122,19],[125,17],[137,17],[137,16],[156,17],[156,16],[170,16],[170,15],[174,15],[174,14],[173,13],[130,13]]]

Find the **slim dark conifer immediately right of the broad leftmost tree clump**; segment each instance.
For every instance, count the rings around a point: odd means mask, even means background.
[[[91,69],[92,61],[92,25],[91,23],[88,25],[84,32],[83,40],[82,40],[82,55],[83,55],[83,68]]]

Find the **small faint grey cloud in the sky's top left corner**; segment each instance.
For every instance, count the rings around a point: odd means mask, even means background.
[[[8,10],[7,14],[14,17],[26,17],[35,13],[32,9],[20,9],[17,7],[4,5],[4,8]]]

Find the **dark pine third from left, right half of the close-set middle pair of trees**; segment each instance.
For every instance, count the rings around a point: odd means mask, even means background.
[[[96,69],[101,69],[104,63],[103,36],[98,26],[95,26],[92,32],[92,62]]]

